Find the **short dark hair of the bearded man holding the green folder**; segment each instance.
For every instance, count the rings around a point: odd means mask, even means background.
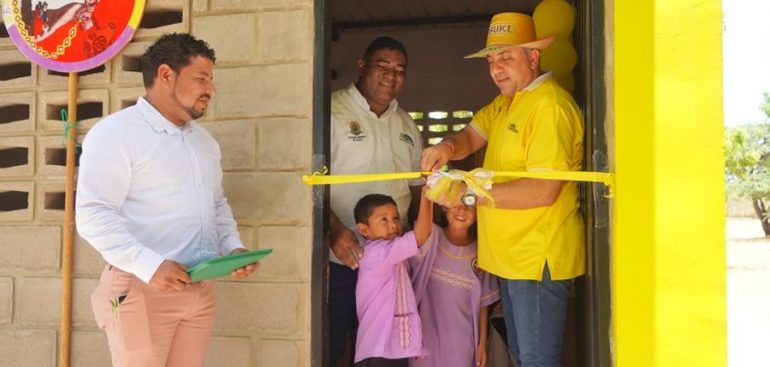
[[[150,88],[158,76],[158,67],[166,64],[174,72],[179,72],[190,64],[190,59],[203,56],[216,62],[214,50],[203,40],[188,33],[167,33],[161,36],[142,55],[142,79],[144,87]]]

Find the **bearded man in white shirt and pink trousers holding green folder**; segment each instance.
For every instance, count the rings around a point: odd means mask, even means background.
[[[192,283],[186,270],[246,251],[223,195],[219,145],[192,121],[214,96],[215,60],[189,34],[164,35],[142,56],[146,95],[83,142],[77,229],[107,262],[92,306],[114,366],[202,366],[214,282]]]

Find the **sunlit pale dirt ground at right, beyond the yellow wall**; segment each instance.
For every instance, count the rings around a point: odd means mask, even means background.
[[[770,365],[770,237],[758,219],[727,219],[727,359]]]

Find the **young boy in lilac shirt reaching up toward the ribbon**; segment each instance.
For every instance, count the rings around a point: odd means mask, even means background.
[[[414,231],[403,236],[396,202],[390,196],[364,196],[355,206],[354,217],[366,239],[356,283],[356,367],[405,367],[410,357],[426,355],[406,260],[430,236],[433,205],[423,190]]]

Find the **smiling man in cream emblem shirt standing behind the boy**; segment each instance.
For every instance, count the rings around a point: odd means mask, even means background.
[[[331,174],[416,172],[420,170],[422,136],[396,96],[406,79],[404,46],[390,37],[372,41],[358,60],[359,78],[331,97]],[[408,212],[416,217],[421,179],[332,185],[329,236],[329,357],[334,366],[349,334],[355,345],[355,288],[361,237],[355,234],[353,208],[366,194],[385,194],[398,204],[402,228]],[[414,200],[413,200],[414,199]],[[351,361],[346,364],[352,365]]]

